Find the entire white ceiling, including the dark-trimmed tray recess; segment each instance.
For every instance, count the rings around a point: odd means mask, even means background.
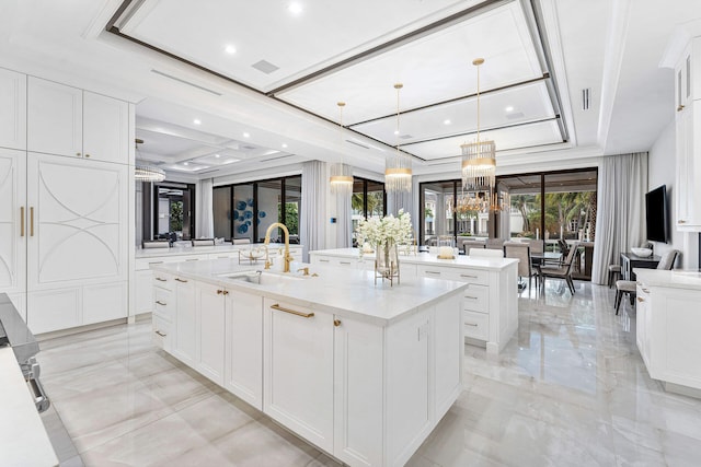
[[[485,58],[480,126],[499,167],[645,151],[674,118],[667,42],[701,17],[697,0],[533,0],[536,14],[520,0],[299,2],[299,14],[280,0],[124,2],[119,32],[176,60],[104,31],[122,0],[2,0],[0,66],[137,103],[139,157],[195,177],[342,154],[379,174],[402,82],[399,141],[414,172],[457,172],[476,129],[472,59]]]

